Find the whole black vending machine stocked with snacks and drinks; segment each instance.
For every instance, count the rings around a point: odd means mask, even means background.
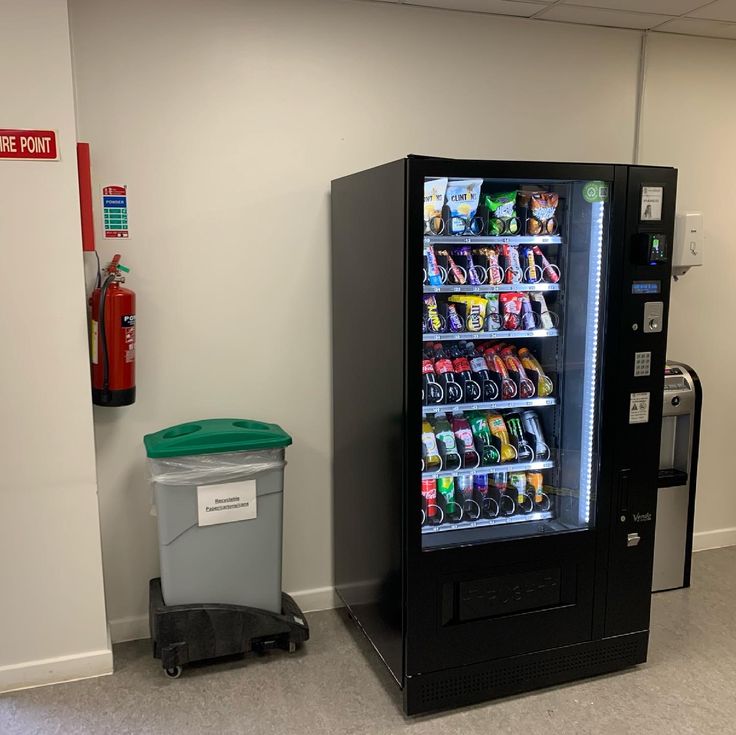
[[[335,582],[408,714],[646,660],[676,179],[332,182]]]

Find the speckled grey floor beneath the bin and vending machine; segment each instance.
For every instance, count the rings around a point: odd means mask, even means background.
[[[736,547],[696,554],[692,588],[654,596],[646,665],[412,720],[344,614],[309,621],[304,651],[178,681],[164,678],[148,641],[118,645],[113,676],[0,696],[0,734],[736,733]]]

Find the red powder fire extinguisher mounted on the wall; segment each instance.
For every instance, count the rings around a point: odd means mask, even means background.
[[[123,288],[128,268],[116,255],[98,274],[90,298],[92,402],[129,406],[135,401],[135,293]]]

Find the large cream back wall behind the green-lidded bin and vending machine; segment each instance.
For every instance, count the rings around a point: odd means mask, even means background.
[[[130,187],[139,297],[138,401],[95,414],[113,635],[145,634],[157,574],[141,437],[198,417],[293,434],[284,587],[327,605],[330,180],[412,152],[629,161],[639,36],[334,0],[70,8],[80,136],[95,185]]]

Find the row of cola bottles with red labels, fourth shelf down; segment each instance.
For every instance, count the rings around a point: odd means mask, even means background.
[[[554,384],[526,347],[472,342],[427,345],[422,403],[435,406],[516,398],[548,398]]]

